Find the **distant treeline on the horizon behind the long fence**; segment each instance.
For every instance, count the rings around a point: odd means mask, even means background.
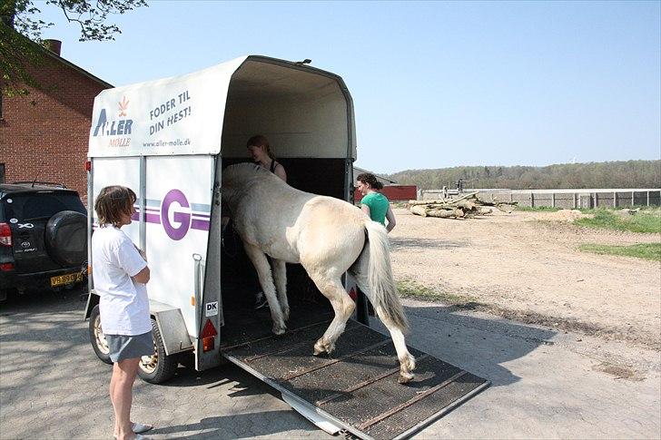
[[[547,167],[453,167],[386,174],[400,185],[421,190],[457,187],[544,190],[573,188],[661,188],[661,161],[563,163]]]

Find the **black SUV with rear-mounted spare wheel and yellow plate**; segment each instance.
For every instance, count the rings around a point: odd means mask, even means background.
[[[0,301],[12,289],[71,287],[87,272],[87,210],[53,184],[0,184]]]

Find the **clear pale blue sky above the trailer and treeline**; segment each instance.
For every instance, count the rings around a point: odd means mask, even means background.
[[[347,83],[372,171],[661,159],[661,2],[152,1],[104,43],[35,5],[114,85],[311,58]]]

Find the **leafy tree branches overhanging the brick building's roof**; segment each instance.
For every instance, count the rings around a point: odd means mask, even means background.
[[[46,0],[60,8],[69,23],[81,29],[79,41],[114,40],[122,31],[106,23],[108,15],[124,14],[146,6],[146,0]],[[40,88],[30,69],[44,62],[42,31],[52,26],[37,15],[33,0],[0,0],[0,78],[8,95],[27,94],[25,86]]]

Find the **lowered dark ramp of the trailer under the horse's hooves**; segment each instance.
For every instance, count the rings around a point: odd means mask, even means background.
[[[488,386],[485,379],[410,347],[416,376],[400,385],[392,340],[352,319],[331,356],[314,357],[312,347],[331,318],[299,322],[282,336],[264,333],[260,327],[270,328],[269,320],[252,321],[247,330],[223,334],[221,353],[281,391],[285,400],[366,439],[413,435]]]

